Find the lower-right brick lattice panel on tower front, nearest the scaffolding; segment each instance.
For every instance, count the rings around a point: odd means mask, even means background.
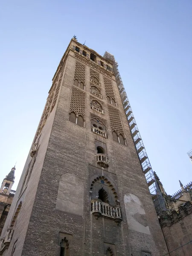
[[[125,138],[119,110],[108,105],[108,111],[112,131],[115,131],[117,135],[121,134],[122,137]]]

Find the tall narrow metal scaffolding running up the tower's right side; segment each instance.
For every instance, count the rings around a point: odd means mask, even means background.
[[[165,199],[163,198],[163,196],[160,192],[160,189],[158,188],[157,180],[154,177],[154,173],[152,171],[151,164],[148,159],[148,155],[145,151],[145,147],[144,147],[143,141],[141,139],[140,132],[137,127],[137,123],[135,121],[135,118],[134,118],[134,115],[133,115],[133,112],[131,109],[131,105],[129,103],[127,94],[125,92],[125,88],[123,86],[121,76],[119,74],[118,63],[116,62],[114,56],[109,52],[105,52],[103,57],[113,64],[113,70],[115,73],[116,83],[119,88],[119,93],[120,93],[120,96],[122,99],[122,104],[123,104],[125,114],[128,119],[128,125],[129,125],[130,131],[131,131],[131,135],[132,135],[132,138],[134,141],[135,148],[137,150],[138,157],[140,159],[143,173],[145,174],[145,178],[146,178],[152,199],[154,201],[156,211],[157,211],[157,213],[161,212],[162,210],[166,210]]]

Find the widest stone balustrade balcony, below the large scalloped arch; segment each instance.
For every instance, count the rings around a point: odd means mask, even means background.
[[[91,212],[98,219],[100,216],[113,219],[118,225],[122,221],[121,207],[112,206],[96,198],[91,200]]]

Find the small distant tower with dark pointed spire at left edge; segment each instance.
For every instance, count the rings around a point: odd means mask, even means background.
[[[0,188],[0,234],[3,230],[10,206],[15,195],[15,190],[12,186],[15,180],[15,166],[11,172],[5,177]]]

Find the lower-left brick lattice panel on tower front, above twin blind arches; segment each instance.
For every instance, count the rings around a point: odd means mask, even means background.
[[[70,113],[74,112],[76,116],[85,115],[85,93],[81,90],[72,87]]]

